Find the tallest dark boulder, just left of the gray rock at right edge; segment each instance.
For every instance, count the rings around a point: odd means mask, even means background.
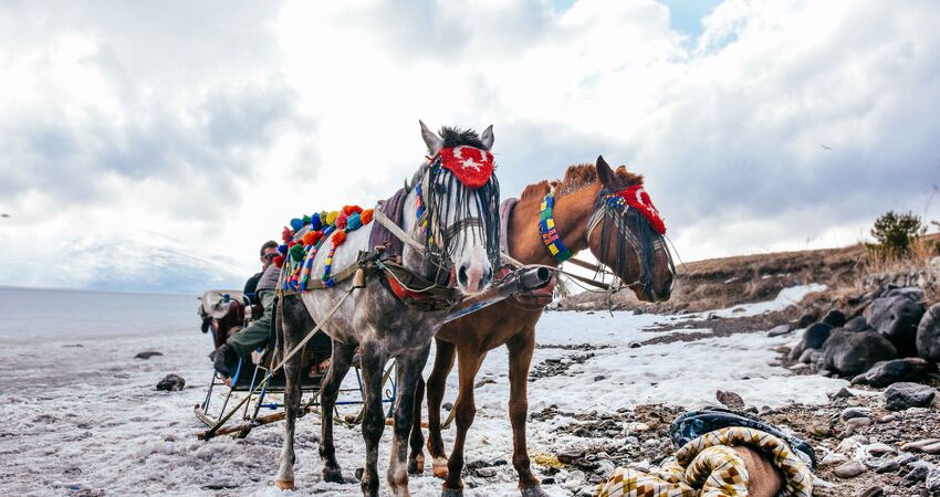
[[[895,288],[865,309],[868,325],[891,340],[901,356],[917,356],[917,326],[923,317],[923,290]]]

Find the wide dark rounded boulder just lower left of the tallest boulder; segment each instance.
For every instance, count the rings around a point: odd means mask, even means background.
[[[876,331],[852,332],[839,329],[826,341],[823,355],[826,369],[855,376],[868,371],[880,361],[896,359],[898,351]]]

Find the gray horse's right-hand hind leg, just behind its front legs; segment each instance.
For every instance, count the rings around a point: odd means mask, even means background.
[[[340,385],[349,371],[355,353],[355,346],[333,340],[330,370],[320,390],[320,459],[323,461],[324,482],[343,483],[343,470],[336,461],[336,446],[333,442],[333,411],[336,406],[336,398],[340,395]]]

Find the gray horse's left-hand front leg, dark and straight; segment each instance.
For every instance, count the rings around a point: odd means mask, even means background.
[[[361,487],[366,497],[378,497],[378,442],[385,430],[382,408],[382,377],[386,353],[375,346],[363,343],[359,350],[363,372],[363,440],[366,443],[366,465]]]

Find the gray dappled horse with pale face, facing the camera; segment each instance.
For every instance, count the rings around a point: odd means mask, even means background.
[[[489,151],[493,145],[492,126],[482,135],[442,128],[440,137],[421,123],[421,136],[431,157],[442,149],[470,147]],[[479,151],[479,150],[478,150]],[[491,156],[490,156],[491,157]],[[472,161],[463,167],[473,167]],[[407,198],[403,207],[400,228],[424,243],[419,251],[405,244],[401,265],[438,284],[456,279],[463,295],[483,292],[493,276],[499,257],[499,183],[495,176],[480,188],[469,188],[458,175],[443,169],[438,162],[426,161],[406,184]],[[418,225],[416,201],[424,207],[427,224]],[[375,221],[377,222],[377,221]],[[374,226],[372,226],[374,228]],[[370,229],[356,230],[335,252],[333,267],[354,264],[359,251],[369,251]],[[311,274],[323,274],[326,251],[321,251],[313,262]],[[440,329],[447,310],[418,310],[393,295],[378,281],[368,278],[364,288],[356,289],[342,304],[338,311],[324,324],[324,331],[333,339],[330,372],[321,390],[320,457],[323,478],[342,483],[343,475],[336,461],[333,444],[333,412],[340,384],[349,370],[356,348],[359,349],[363,374],[363,438],[366,444],[366,463],[362,490],[367,496],[378,495],[378,442],[385,429],[382,406],[382,376],[389,359],[396,360],[398,391],[395,400],[395,425],[391,461],[387,480],[396,496],[408,496],[407,451],[411,430],[415,391],[428,359],[431,338]],[[333,289],[304,292],[301,298],[284,298],[282,317],[283,350],[291,350],[312,328],[321,322],[353,284],[352,278],[337,283]],[[301,304],[302,303],[302,304]],[[307,316],[307,313],[310,316]],[[281,467],[275,478],[280,488],[293,488],[294,425],[300,412],[300,355],[284,366],[286,393],[284,404],[286,423]]]

